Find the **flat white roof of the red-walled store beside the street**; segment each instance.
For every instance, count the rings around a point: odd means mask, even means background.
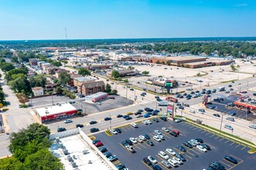
[[[59,104],[59,105],[54,105],[50,107],[40,107],[36,108],[36,112],[39,114],[40,117],[46,117],[49,115],[54,115],[54,114],[60,114],[63,112],[68,112],[72,110],[77,110],[76,107],[73,107],[72,104]]]

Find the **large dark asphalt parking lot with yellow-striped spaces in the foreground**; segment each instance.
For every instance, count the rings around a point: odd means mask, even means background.
[[[166,127],[169,131],[177,130],[180,132],[178,137],[173,137],[171,134],[166,133],[161,130],[162,127]],[[152,137],[155,135],[155,130],[161,130],[162,135],[166,140],[157,142]],[[152,124],[142,124],[138,123],[138,128],[132,128],[131,125],[121,128],[121,134],[114,134],[113,136],[108,136],[106,133],[102,132],[100,134],[95,134],[94,136],[104,143],[104,147],[108,149],[113,155],[117,155],[118,161],[113,162],[115,165],[123,164],[129,169],[151,169],[148,165],[142,162],[142,159],[153,156],[157,161],[158,165],[162,169],[166,169],[161,162],[164,160],[159,157],[159,151],[165,151],[166,148],[171,148],[176,153],[179,151],[176,146],[183,145],[184,141],[189,141],[192,138],[202,138],[204,143],[209,145],[211,150],[207,152],[200,151],[196,147],[186,148],[186,151],[181,152],[181,154],[186,158],[186,162],[179,165],[179,169],[203,169],[207,168],[211,162],[220,162],[227,169],[254,169],[254,162],[251,160],[256,159],[256,155],[249,155],[245,145],[238,144],[234,141],[230,141],[226,138],[222,138],[217,134],[212,134],[201,128],[197,128],[186,122],[174,123],[170,121],[161,121],[156,123],[152,121]],[[121,141],[125,141],[128,138],[136,138],[139,135],[148,134],[153,141],[154,146],[149,146],[145,141],[143,143],[134,144],[135,153],[128,151]],[[166,154],[169,155],[168,152]],[[230,155],[237,159],[237,164],[233,164],[224,159],[225,155]],[[169,155],[169,158],[172,158]],[[173,168],[173,167],[172,167]]]

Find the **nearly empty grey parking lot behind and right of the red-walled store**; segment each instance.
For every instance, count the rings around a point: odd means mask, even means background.
[[[101,105],[99,105],[99,104],[86,103],[81,98],[72,100],[69,97],[53,95],[53,97],[49,96],[49,97],[39,97],[39,98],[32,99],[32,106],[44,107],[52,104],[57,104],[57,103],[63,104],[66,102],[74,101],[74,103],[72,102],[72,105],[77,109],[83,109],[84,112],[87,114],[94,114],[104,110],[111,110],[119,107],[126,107],[130,104],[133,104],[133,100],[129,100],[125,97],[115,96],[115,95],[109,96],[109,97],[114,97],[114,99],[110,99],[107,97],[104,100],[101,100]]]

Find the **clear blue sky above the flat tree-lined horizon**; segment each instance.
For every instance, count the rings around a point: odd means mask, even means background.
[[[255,0],[0,0],[0,40],[256,36]]]

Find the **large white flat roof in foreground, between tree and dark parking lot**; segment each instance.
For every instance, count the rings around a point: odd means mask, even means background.
[[[63,154],[63,149],[60,148],[60,143],[53,141],[53,145],[49,148],[49,151],[53,153],[57,158],[60,158],[60,161],[63,163],[65,170],[73,170],[73,169],[87,169],[87,170],[111,170],[109,164],[111,162],[107,162],[102,158],[104,155],[98,154],[95,151],[95,147],[91,147],[88,142],[80,134],[73,134],[60,138],[60,142],[70,153],[69,155]],[[85,134],[86,135],[86,134]],[[96,148],[97,149],[97,148]],[[85,153],[83,153],[83,151]],[[73,158],[73,162],[76,163],[77,168],[73,168],[71,163],[68,161],[68,156]],[[114,166],[114,165],[113,165]]]

